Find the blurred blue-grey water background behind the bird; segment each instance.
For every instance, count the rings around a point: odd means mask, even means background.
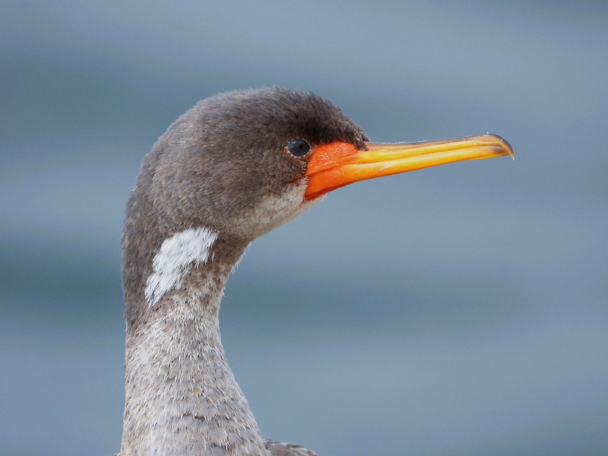
[[[197,100],[280,85],[372,140],[516,160],[354,184],[255,241],[221,329],[264,437],[608,454],[606,2],[0,4],[0,454],[120,449],[119,239]]]

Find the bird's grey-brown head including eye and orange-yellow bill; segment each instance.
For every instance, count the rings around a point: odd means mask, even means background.
[[[202,100],[168,128],[147,163],[151,202],[167,231],[205,226],[252,240],[352,182],[506,154],[508,143],[492,135],[371,143],[323,98],[263,88]]]

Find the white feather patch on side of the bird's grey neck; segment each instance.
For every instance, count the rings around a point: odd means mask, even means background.
[[[207,263],[209,250],[218,233],[209,228],[189,228],[165,239],[152,262],[153,272],[144,291],[148,304],[153,306],[162,295],[179,287],[192,266]]]

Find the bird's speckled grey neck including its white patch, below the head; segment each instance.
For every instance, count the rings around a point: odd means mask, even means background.
[[[148,258],[139,285],[125,280],[135,302],[126,302],[122,455],[266,454],[219,333],[219,301],[246,245],[185,230]]]

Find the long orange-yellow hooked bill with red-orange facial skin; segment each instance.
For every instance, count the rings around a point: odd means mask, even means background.
[[[495,134],[413,143],[366,142],[365,150],[346,142],[314,148],[306,173],[304,198],[314,199],[353,182],[406,173],[462,160],[510,155],[511,145]]]

